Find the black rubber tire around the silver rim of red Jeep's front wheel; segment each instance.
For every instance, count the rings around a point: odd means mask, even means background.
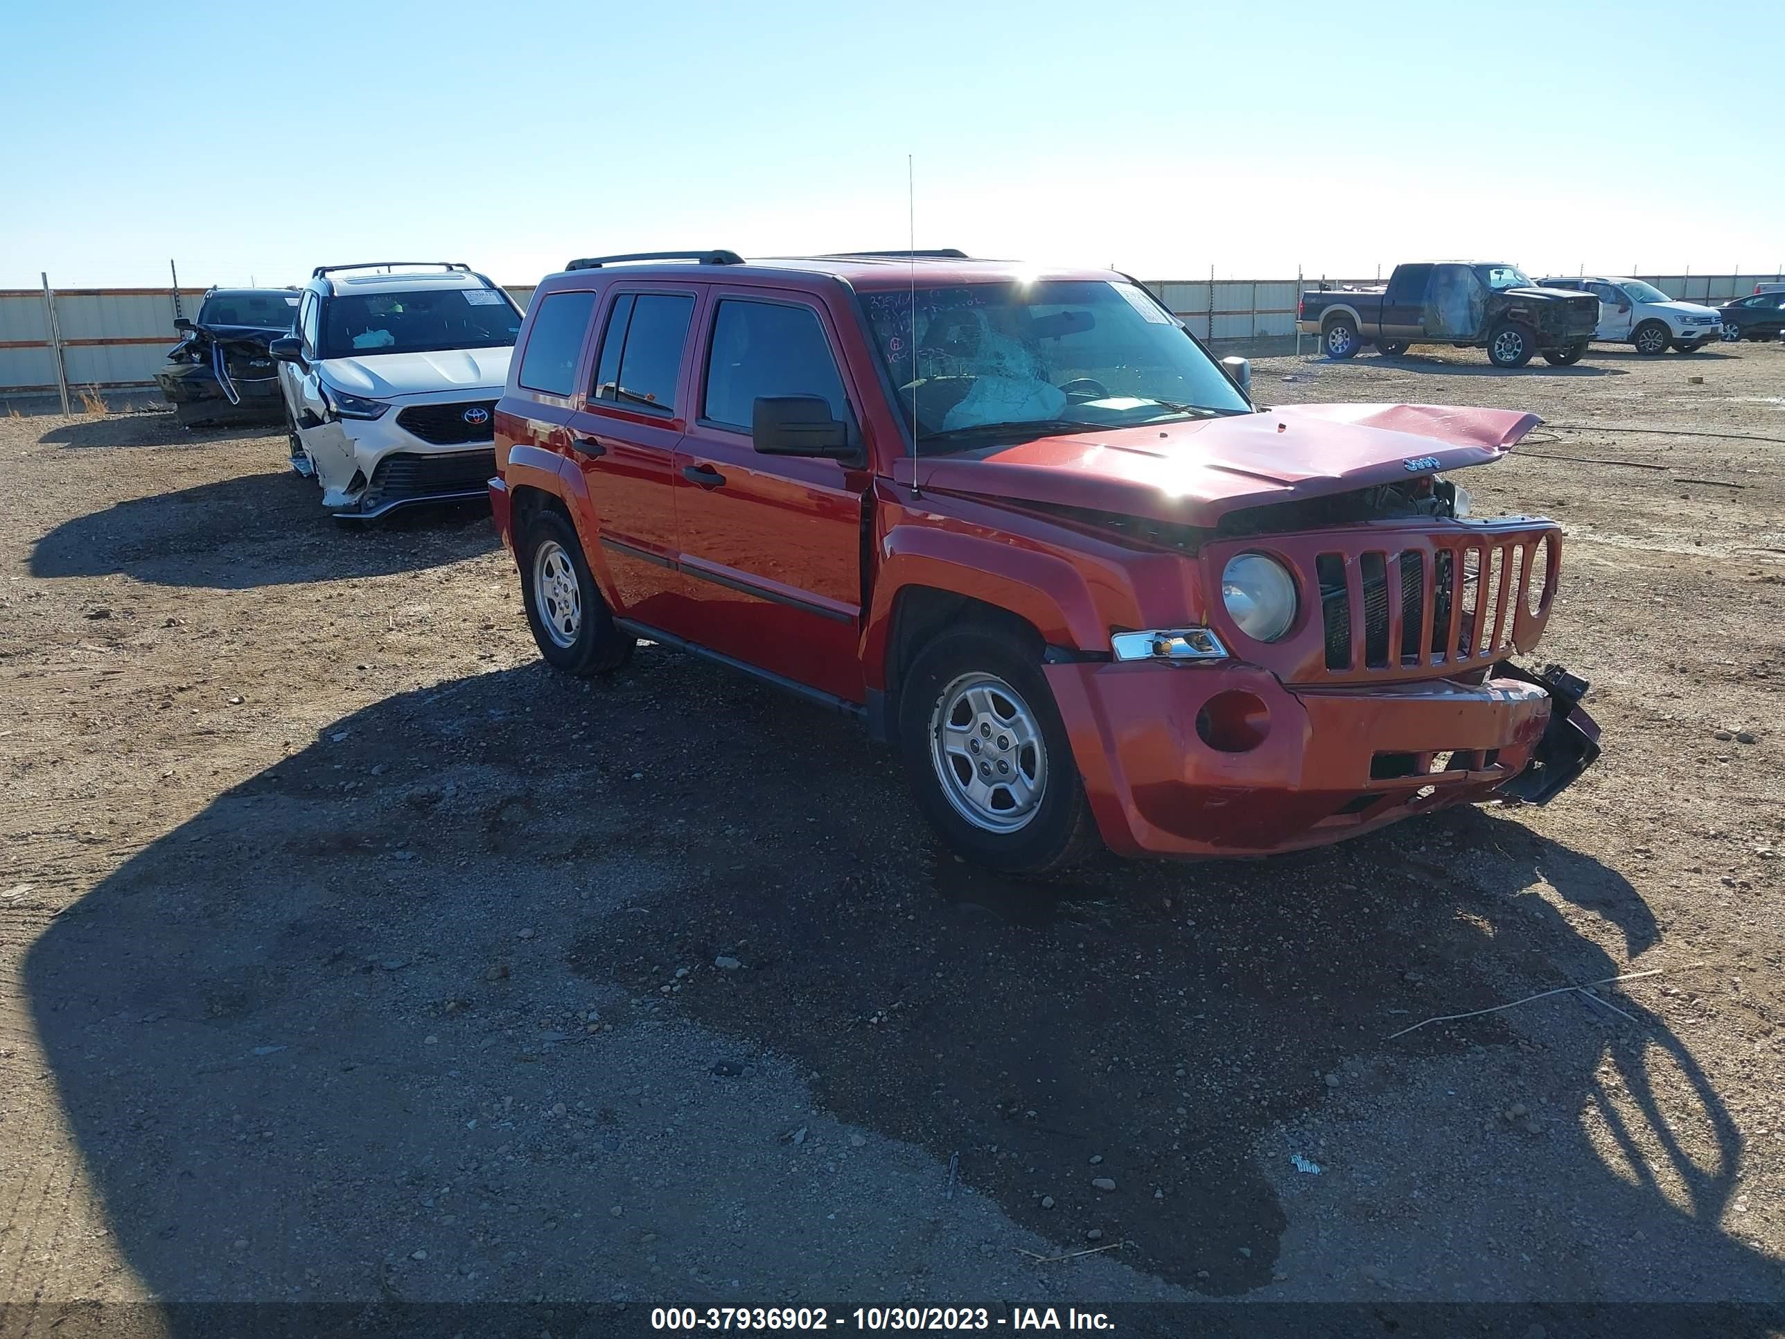
[[[917,653],[898,700],[898,748],[917,809],[942,841],[962,857],[1019,875],[1066,868],[1082,861],[1098,844],[1085,786],[1073,762],[1073,746],[1066,737],[1066,725],[1060,721],[1048,680],[1041,673],[1039,659],[1035,653],[1025,653],[1025,639],[1012,637],[1003,628],[967,625],[944,632]],[[984,682],[987,678],[1001,684]],[[973,802],[957,798],[967,782],[957,769],[957,782],[950,786],[941,771],[951,766],[950,759],[959,759],[971,778],[973,762],[967,755],[950,753],[934,741],[941,727],[937,718],[944,703],[953,702],[967,709],[966,737],[969,744],[978,744],[971,728],[978,718],[971,703],[959,696],[973,687],[987,689],[994,702],[1003,698],[1003,707],[1014,709],[1010,719],[1017,721],[1009,736],[1014,748],[1000,748],[1003,727],[992,725],[992,734],[985,736],[980,768],[1009,761],[1037,771],[1041,778],[1039,800],[1014,830],[991,830],[985,823],[967,818],[966,811],[973,809]],[[994,709],[994,719],[1001,721],[1003,712]],[[1039,762],[1034,755],[1026,755],[1023,727],[1039,728]],[[959,716],[957,728],[960,728]],[[1025,757],[1030,761],[1025,762]],[[987,775],[994,787],[1000,786],[994,773]],[[1012,793],[1005,789],[1005,794]],[[1012,807],[1010,814],[1010,821],[1017,821],[1019,809]],[[991,819],[996,821],[996,814]]]

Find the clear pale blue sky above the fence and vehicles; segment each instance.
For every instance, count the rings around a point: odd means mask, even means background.
[[[917,243],[1785,261],[1785,0],[0,0],[0,286]]]

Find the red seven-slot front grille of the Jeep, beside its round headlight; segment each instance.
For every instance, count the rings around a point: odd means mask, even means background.
[[[1355,573],[1344,553],[1319,553],[1326,668],[1496,661],[1512,650],[1521,602],[1542,595],[1546,559],[1542,539],[1439,546],[1430,571],[1424,550],[1358,553]]]

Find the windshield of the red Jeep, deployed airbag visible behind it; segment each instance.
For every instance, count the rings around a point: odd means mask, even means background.
[[[912,298],[916,296],[916,323]],[[1133,284],[1100,279],[864,293],[875,352],[930,450],[1251,407]]]

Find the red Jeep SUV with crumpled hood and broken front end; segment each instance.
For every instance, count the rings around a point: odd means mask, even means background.
[[[1258,855],[1598,757],[1510,659],[1560,528],[1442,471],[1532,414],[1264,409],[1144,286],[959,252],[573,261],[489,493],[539,650],[639,637],[862,718],[964,855]]]

